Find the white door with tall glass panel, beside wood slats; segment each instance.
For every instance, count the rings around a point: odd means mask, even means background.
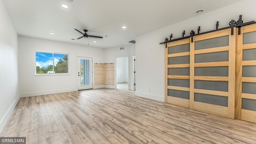
[[[78,57],[78,90],[92,89],[92,58]]]

